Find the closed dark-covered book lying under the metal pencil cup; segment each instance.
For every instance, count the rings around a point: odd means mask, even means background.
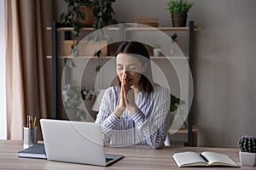
[[[46,159],[44,144],[34,144],[25,150],[18,152],[19,157]]]

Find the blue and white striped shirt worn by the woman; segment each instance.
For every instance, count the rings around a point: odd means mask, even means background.
[[[168,89],[154,87],[154,92],[139,92],[137,106],[139,110],[131,115],[125,109],[119,118],[113,111],[119,105],[120,88],[111,87],[105,91],[96,122],[102,125],[105,144],[124,146],[148,144],[157,149],[166,140],[166,117],[170,106]]]

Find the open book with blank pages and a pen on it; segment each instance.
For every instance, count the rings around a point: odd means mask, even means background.
[[[240,167],[230,158],[230,156],[212,151],[205,151],[201,153],[186,151],[175,153],[172,157],[174,161],[176,161],[177,167]]]

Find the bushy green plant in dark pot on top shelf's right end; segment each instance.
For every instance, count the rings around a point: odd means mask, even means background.
[[[172,16],[172,26],[186,26],[189,8],[193,6],[193,3],[187,0],[171,0],[167,6]]]

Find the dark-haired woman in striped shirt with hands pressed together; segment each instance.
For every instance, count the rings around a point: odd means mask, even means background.
[[[115,56],[119,86],[105,91],[96,118],[104,142],[160,148],[166,140],[169,91],[153,82],[148,50],[141,42],[123,42]]]

